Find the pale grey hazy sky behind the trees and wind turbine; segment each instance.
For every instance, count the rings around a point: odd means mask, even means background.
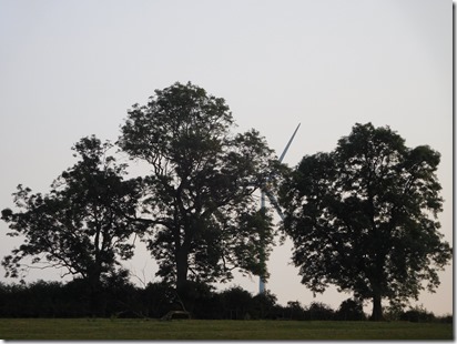
[[[450,0],[0,0],[0,209],[20,183],[48,192],[75,163],[79,139],[115,141],[132,104],[191,81],[224,98],[237,130],[258,130],[278,155],[302,123],[284,159],[292,168],[335,149],[355,123],[430,145],[441,154],[441,233],[454,242]],[[7,232],[0,221],[1,255],[21,242]],[[268,261],[278,303],[337,308],[352,296],[332,287],[314,297],[291,250],[287,241]],[[138,283],[156,281],[144,247],[125,266]],[[61,274],[33,270],[28,280]],[[453,265],[439,276],[416,304],[450,314]],[[241,275],[220,289],[234,285],[258,290]]]

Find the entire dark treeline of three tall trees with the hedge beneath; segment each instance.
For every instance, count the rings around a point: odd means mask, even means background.
[[[331,281],[372,301],[370,320],[383,321],[384,301],[415,297],[427,280],[431,292],[451,262],[436,217],[443,211],[435,173],[440,154],[406,146],[389,127],[356,123],[336,149],[304,155],[290,169],[281,161],[298,127],[277,159],[255,129],[236,133],[224,99],[190,82],[155,90],[148,104],[128,113],[115,143],[82,138],[72,148],[77,163],[48,192],[19,184],[14,206],[1,210],[7,235],[23,239],[1,260],[6,277],[24,279],[31,264],[77,279],[6,286],[4,314],[159,317],[177,302],[200,318],[349,317],[323,305],[281,307],[273,295],[247,294],[234,306],[227,300],[235,291],[192,285],[232,281],[233,271],[266,280],[272,247],[287,236],[304,287],[322,293]],[[119,158],[146,163],[145,174],[130,178]],[[270,200],[267,208],[257,192]],[[136,239],[172,290],[110,277],[120,276]],[[40,287],[49,302],[28,295],[30,289],[41,295]]]

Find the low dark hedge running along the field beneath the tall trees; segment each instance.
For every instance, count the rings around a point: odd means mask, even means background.
[[[171,310],[183,310],[173,286],[149,283],[135,286],[122,277],[104,281],[93,314],[90,291],[82,280],[68,283],[37,281],[33,283],[0,283],[0,317],[138,317],[161,318]],[[313,302],[308,306],[297,301],[277,304],[274,294],[252,295],[235,286],[221,292],[202,283],[192,283],[186,311],[201,320],[298,320],[364,321],[359,302],[348,299],[337,310]],[[423,308],[386,314],[392,320],[410,322],[453,322],[453,316],[436,317]]]

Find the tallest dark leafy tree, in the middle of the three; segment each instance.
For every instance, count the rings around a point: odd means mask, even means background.
[[[129,111],[119,145],[146,162],[138,221],[160,265],[158,275],[184,292],[187,280],[232,279],[232,270],[266,275],[261,243],[271,216],[254,196],[278,164],[258,132],[231,133],[224,99],[191,83],[155,90]],[[266,252],[267,254],[267,252]]]

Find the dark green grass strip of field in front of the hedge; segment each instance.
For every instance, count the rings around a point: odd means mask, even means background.
[[[453,324],[0,318],[1,340],[453,340]]]

